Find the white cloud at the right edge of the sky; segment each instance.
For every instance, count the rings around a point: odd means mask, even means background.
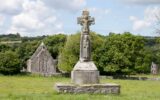
[[[139,19],[135,16],[130,16],[129,19],[133,22],[133,30],[138,31],[151,27],[157,21],[156,15],[159,14],[159,7],[147,7],[144,11],[143,19]]]

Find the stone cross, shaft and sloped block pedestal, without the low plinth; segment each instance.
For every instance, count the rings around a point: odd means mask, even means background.
[[[71,73],[72,82],[75,84],[96,84],[99,83],[99,71],[91,61],[91,43],[89,26],[94,24],[94,18],[89,16],[88,11],[83,11],[78,17],[78,24],[82,26],[80,40],[80,57]]]

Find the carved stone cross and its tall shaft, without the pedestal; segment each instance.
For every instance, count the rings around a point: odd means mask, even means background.
[[[89,12],[84,10],[82,16],[77,18],[78,24],[82,26],[81,41],[80,41],[80,61],[86,62],[91,60],[91,43],[89,36],[89,26],[95,24],[94,18],[89,16]]]

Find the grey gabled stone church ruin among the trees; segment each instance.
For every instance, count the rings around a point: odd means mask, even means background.
[[[54,60],[42,42],[35,53],[27,61],[27,71],[44,76],[56,74],[57,60]]]

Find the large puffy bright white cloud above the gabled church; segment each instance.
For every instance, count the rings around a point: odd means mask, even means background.
[[[23,11],[12,17],[8,33],[21,33],[22,35],[42,35],[61,31],[62,23],[57,20],[56,13],[40,1],[26,0]],[[31,34],[34,33],[34,34]]]

